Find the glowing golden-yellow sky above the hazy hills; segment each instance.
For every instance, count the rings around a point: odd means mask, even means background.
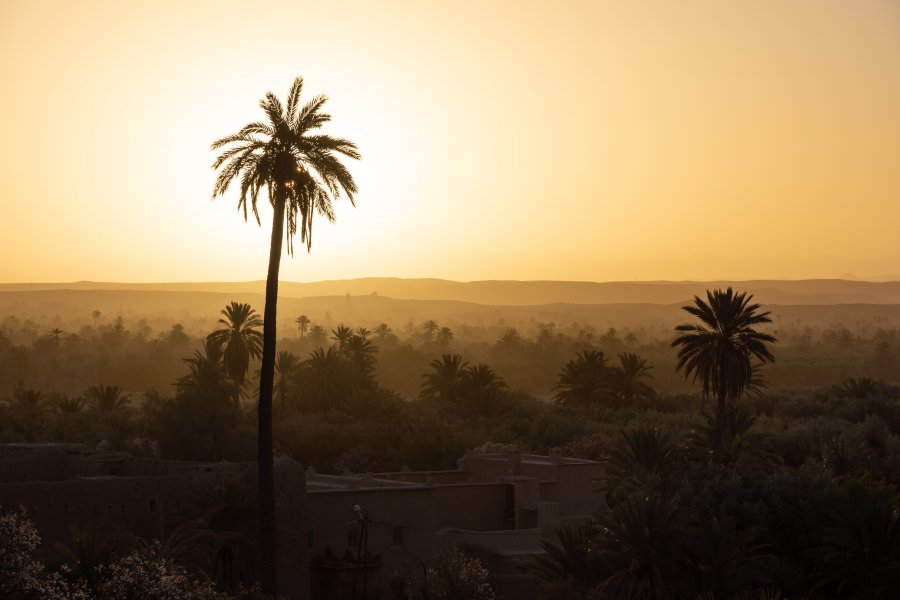
[[[292,281],[900,279],[896,0],[0,0],[0,281],[264,279],[267,91],[359,194]]]

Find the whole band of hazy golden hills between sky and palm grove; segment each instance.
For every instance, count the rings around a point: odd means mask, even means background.
[[[293,328],[297,315],[329,327],[418,324],[436,319],[533,329],[538,322],[597,327],[665,329],[684,322],[681,306],[707,289],[747,290],[771,310],[778,325],[900,327],[900,282],[847,280],[712,282],[473,281],[366,278],[314,283],[282,282],[279,327]],[[122,315],[155,326],[179,321],[194,331],[215,325],[230,301],[258,312],[264,282],[0,284],[0,321],[5,316],[52,322],[76,330],[99,310],[103,321]],[[283,330],[284,331],[284,330]]]

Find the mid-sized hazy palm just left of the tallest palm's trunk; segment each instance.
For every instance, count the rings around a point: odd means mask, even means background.
[[[225,315],[224,319],[219,319],[222,328],[210,333],[206,339],[221,352],[225,371],[240,390],[250,360],[262,354],[263,336],[259,327],[263,322],[249,304],[232,302],[222,309],[222,314]]]

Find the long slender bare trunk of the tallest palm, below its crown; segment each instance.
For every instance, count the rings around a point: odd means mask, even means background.
[[[274,188],[274,189],[273,189]],[[275,527],[275,468],[272,452],[272,392],[275,383],[275,313],[278,304],[278,270],[284,239],[284,198],[277,186],[275,197],[269,272],[266,276],[266,306],[263,312],[263,355],[259,373],[259,579],[264,594],[275,596],[278,587]]]

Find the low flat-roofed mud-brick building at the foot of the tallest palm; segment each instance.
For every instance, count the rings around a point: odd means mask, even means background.
[[[518,561],[542,538],[605,507],[603,466],[517,452],[467,453],[448,471],[322,475],[276,461],[279,587],[289,598],[392,598],[395,578],[421,575],[441,551],[477,555],[506,598],[534,596]],[[236,479],[252,463],[138,458],[80,444],[0,445],[0,506],[23,505],[45,543],[71,522],[122,526],[165,539],[184,495]],[[356,590],[355,597],[353,591]]]

